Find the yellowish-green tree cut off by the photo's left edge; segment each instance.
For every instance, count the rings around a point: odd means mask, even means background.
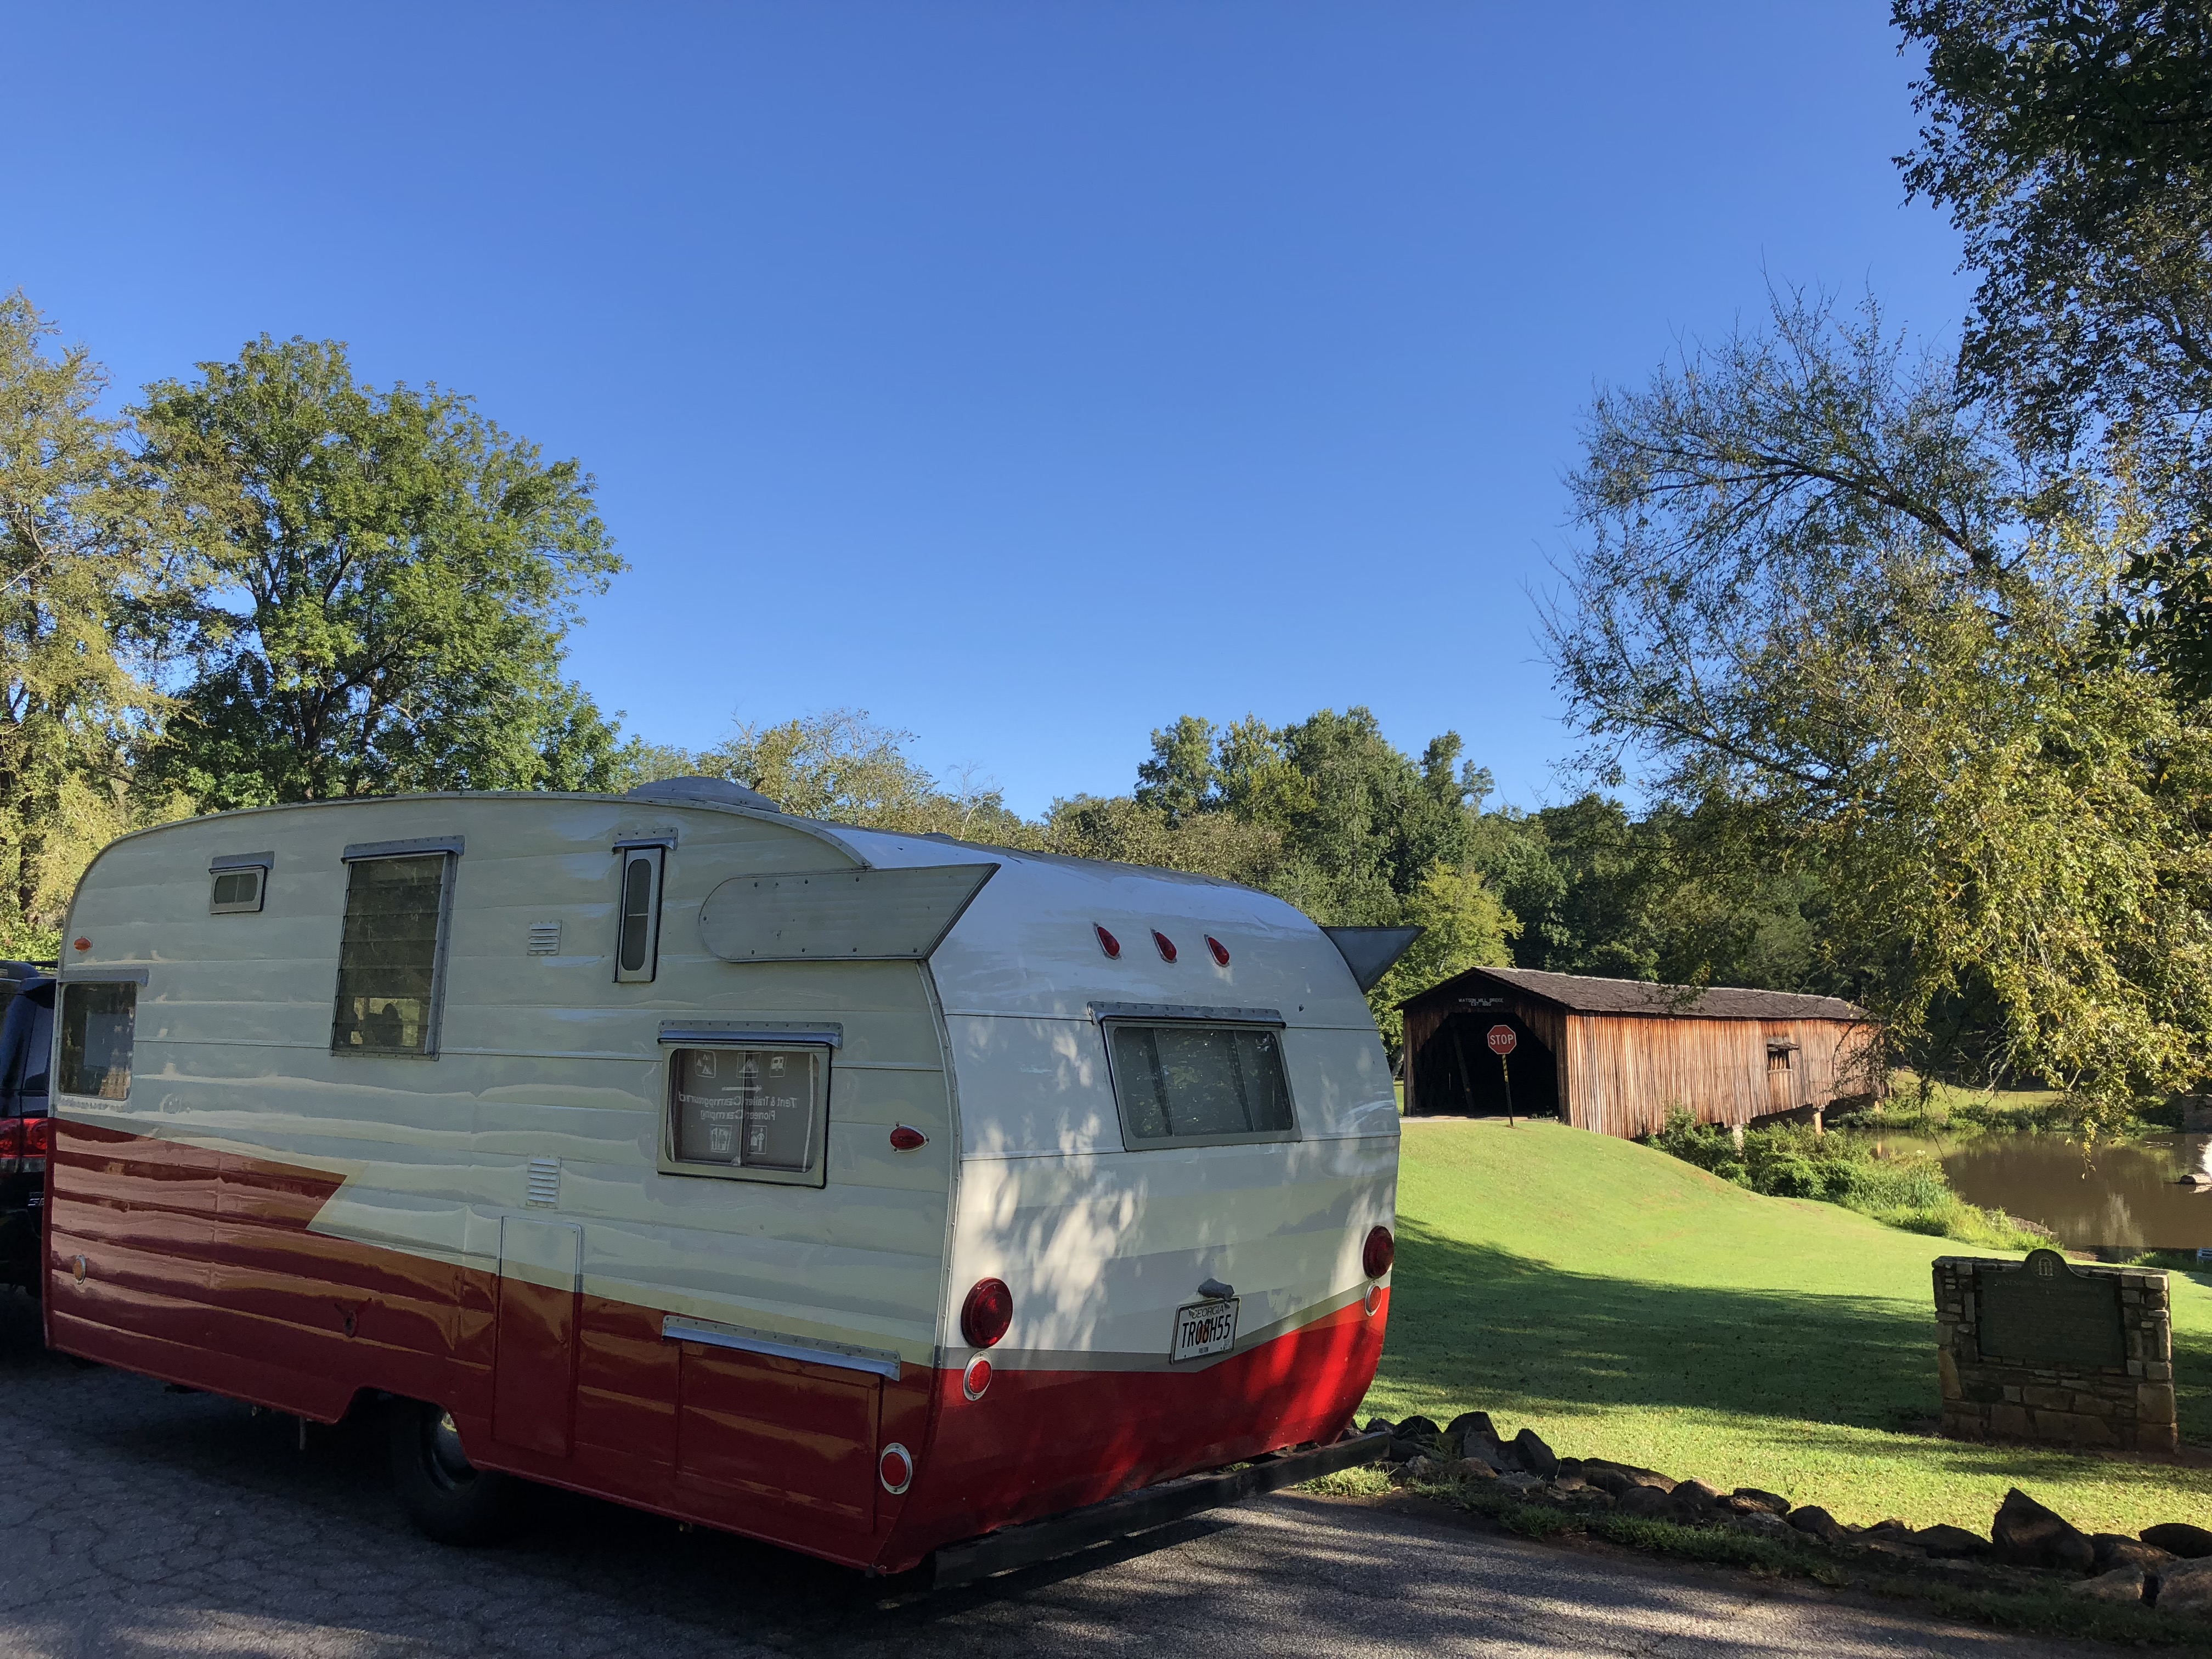
[[[199,573],[166,538],[102,369],[0,299],[0,951],[49,956],[77,874],[173,810],[131,761],[166,712],[150,684]]]

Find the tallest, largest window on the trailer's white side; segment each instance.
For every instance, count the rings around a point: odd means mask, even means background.
[[[332,1053],[438,1053],[451,887],[449,849],[347,858]]]

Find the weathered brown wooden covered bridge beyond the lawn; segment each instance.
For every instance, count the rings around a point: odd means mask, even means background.
[[[1405,1011],[1407,1113],[1551,1115],[1601,1135],[1814,1117],[1880,1095],[1880,1029],[1840,998],[1469,969]],[[1511,1033],[1509,1046],[1495,1031]],[[1511,1093],[1509,1093],[1511,1086]]]

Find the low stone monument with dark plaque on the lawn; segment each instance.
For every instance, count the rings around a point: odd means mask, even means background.
[[[2174,1451],[2166,1274],[2033,1250],[1936,1261],[1936,1371],[1953,1440]]]

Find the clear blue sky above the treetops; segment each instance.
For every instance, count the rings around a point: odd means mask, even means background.
[[[854,706],[1009,805],[1177,714],[1573,748],[1599,380],[1869,285],[1947,336],[1887,4],[0,4],[0,288],[119,387],[352,343],[599,480],[626,726]]]

